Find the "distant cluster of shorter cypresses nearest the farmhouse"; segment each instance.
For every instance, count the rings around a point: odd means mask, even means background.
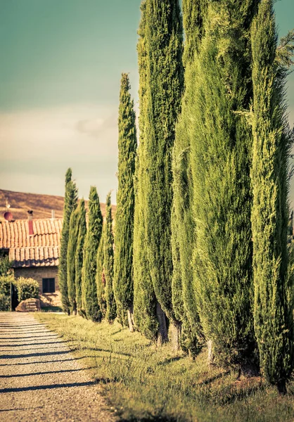
[[[110,194],[107,198],[104,224],[96,187],[91,186],[90,189],[87,218],[84,199],[79,200],[78,204],[77,202],[77,187],[75,181],[72,181],[72,170],[69,169],[65,176],[65,204],[58,267],[61,301],[66,313],[76,315],[79,312],[87,319],[101,321],[105,315],[102,301],[104,292],[101,292],[102,276],[113,272]],[[110,283],[112,284],[112,279]],[[115,319],[115,316],[114,308],[109,320]]]

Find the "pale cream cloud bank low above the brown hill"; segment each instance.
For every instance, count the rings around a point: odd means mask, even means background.
[[[96,104],[0,113],[1,187],[63,194],[72,167],[81,196],[101,197],[117,181],[117,110]]]

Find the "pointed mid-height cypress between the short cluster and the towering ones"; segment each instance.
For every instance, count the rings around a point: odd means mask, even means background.
[[[113,290],[122,319],[128,314],[129,331],[133,324],[133,242],[134,242],[134,171],[136,159],[136,115],[129,93],[129,77],[122,74],[118,117],[118,191],[115,215],[115,257]],[[118,314],[118,312],[117,312]]]

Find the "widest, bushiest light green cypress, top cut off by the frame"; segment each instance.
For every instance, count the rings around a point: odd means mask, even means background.
[[[193,283],[200,323],[219,362],[244,368],[255,358],[250,229],[252,98],[248,32],[258,1],[210,2],[193,62],[188,125],[196,245]]]

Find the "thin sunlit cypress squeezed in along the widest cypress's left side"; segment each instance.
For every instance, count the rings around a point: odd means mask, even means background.
[[[185,65],[185,94],[181,115],[176,127],[176,137],[172,155],[173,172],[173,212],[172,251],[174,272],[172,276],[172,303],[177,319],[183,324],[182,346],[192,354],[198,351],[201,338],[195,290],[193,289],[193,268],[191,257],[196,242],[193,221],[193,183],[191,175],[190,139],[188,137],[188,114],[193,101],[193,73],[191,64],[198,53],[203,36],[203,15],[206,0],[183,0],[183,22],[185,44],[183,62]]]

